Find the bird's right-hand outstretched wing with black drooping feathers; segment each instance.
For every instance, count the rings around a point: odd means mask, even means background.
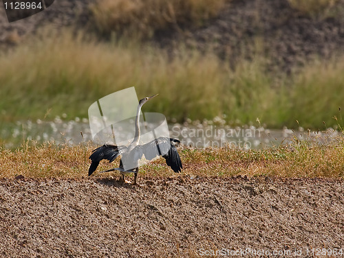
[[[166,164],[169,165],[174,172],[179,173],[182,171],[183,165],[174,143],[180,143],[180,141],[173,138],[159,137],[142,145],[142,152],[144,157],[149,161],[156,156],[164,157],[164,159],[166,159]]]

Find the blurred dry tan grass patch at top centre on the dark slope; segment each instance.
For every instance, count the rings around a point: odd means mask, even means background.
[[[149,37],[171,25],[200,25],[217,16],[226,0],[100,0],[92,5],[100,32]]]

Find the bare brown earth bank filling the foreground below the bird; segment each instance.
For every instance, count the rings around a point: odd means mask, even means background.
[[[321,257],[316,248],[344,248],[344,180],[140,183],[0,179],[0,257],[204,257],[222,248],[218,257]]]

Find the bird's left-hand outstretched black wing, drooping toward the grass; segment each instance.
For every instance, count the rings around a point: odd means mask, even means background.
[[[107,159],[109,162],[112,162],[119,154],[120,152],[118,147],[110,144],[104,144],[103,146],[96,148],[96,150],[93,150],[91,156],[89,156],[92,163],[89,166],[88,175],[91,176],[92,173],[96,171],[100,161]]]

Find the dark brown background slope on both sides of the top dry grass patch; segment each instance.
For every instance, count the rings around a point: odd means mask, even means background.
[[[96,32],[89,4],[95,0],[56,0],[44,12],[8,23],[0,8],[0,48],[25,43],[50,25],[50,30],[76,27]],[[191,49],[212,51],[235,66],[238,60],[266,57],[267,68],[289,73],[314,58],[332,58],[344,51],[344,0],[330,10],[308,16],[294,10],[288,0],[233,0],[215,19],[202,26],[171,24],[147,40],[178,52],[180,43]],[[109,36],[109,35],[108,35]],[[98,38],[102,38],[98,34]],[[107,36],[105,36],[107,38]]]

